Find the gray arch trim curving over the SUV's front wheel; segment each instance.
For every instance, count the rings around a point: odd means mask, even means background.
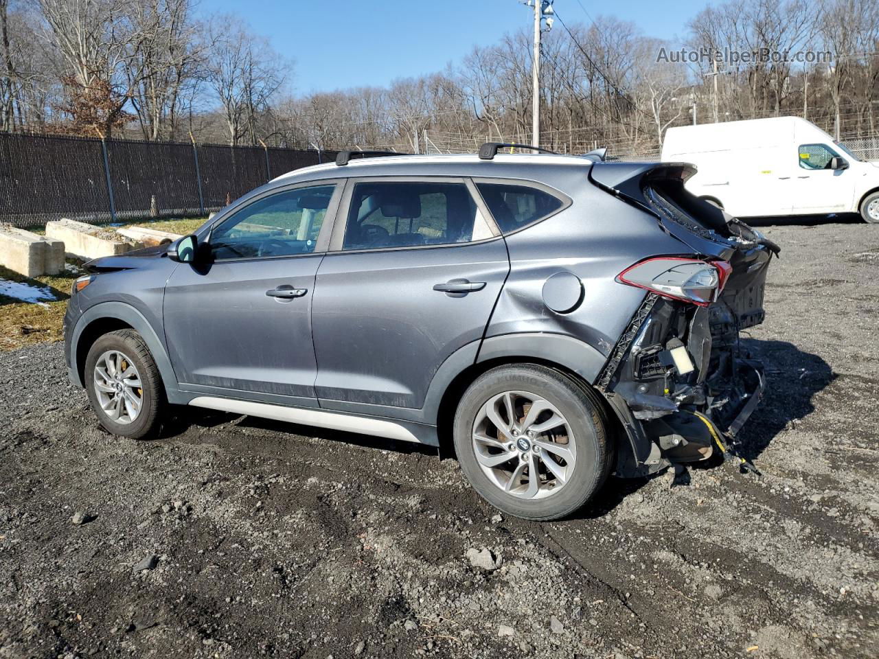
[[[165,389],[165,395],[168,402],[186,403],[192,395],[181,393],[177,387],[177,378],[174,375],[174,369],[171,367],[171,360],[168,353],[164,349],[162,341],[156,334],[156,330],[149,324],[147,319],[140,311],[125,302],[100,302],[93,307],[86,309],[83,315],[79,316],[70,334],[70,381],[76,387],[83,387],[84,383],[80,376],[81,368],[77,363],[77,347],[83,333],[93,322],[100,322],[112,318],[121,322],[125,322],[134,331],[141,335],[143,341],[147,344],[150,354],[156,360],[156,366],[159,374],[162,376],[162,382]]]

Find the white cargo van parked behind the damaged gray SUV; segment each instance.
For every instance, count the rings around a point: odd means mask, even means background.
[[[879,222],[879,163],[799,117],[669,128],[665,162],[696,165],[686,189],[731,215],[860,213]]]

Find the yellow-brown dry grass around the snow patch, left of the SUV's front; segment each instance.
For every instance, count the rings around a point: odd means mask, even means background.
[[[82,264],[70,259],[68,263],[76,266]],[[0,294],[0,351],[16,350],[44,341],[61,341],[62,321],[70,297],[70,286],[77,276],[73,272],[63,272],[60,275],[31,279],[0,266],[0,279],[31,286],[47,286],[57,298],[55,301],[34,304]]]

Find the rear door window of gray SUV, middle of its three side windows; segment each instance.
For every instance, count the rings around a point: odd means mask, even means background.
[[[359,183],[352,193],[342,249],[469,243],[490,235],[463,183]]]

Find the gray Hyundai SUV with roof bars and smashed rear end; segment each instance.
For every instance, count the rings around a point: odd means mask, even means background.
[[[191,405],[454,449],[529,519],[734,450],[778,248],[686,192],[690,165],[498,148],[342,152],[91,261],[70,379],[127,438]]]

